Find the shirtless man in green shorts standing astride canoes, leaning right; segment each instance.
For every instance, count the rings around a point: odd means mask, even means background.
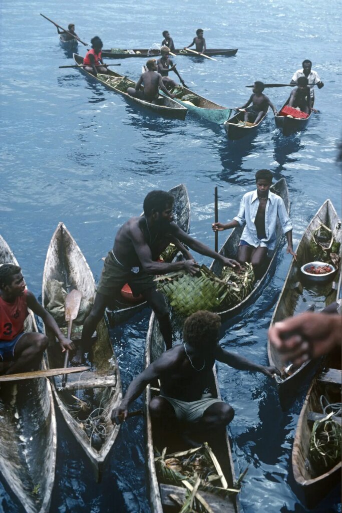
[[[109,301],[117,299],[123,285],[128,283],[133,294],[142,294],[152,307],[166,347],[172,347],[168,309],[164,295],[156,290],[154,275],[183,269],[194,275],[199,268],[192,259],[172,263],[156,262],[160,249],[164,249],[172,239],[177,239],[200,254],[220,260],[225,266],[240,268],[235,260],[219,255],[180,229],[173,222],[173,201],[174,197],[169,192],[151,191],[144,200],[144,215],[129,219],[119,228],[113,249],[105,260],[94,306],[84,323],[82,343],[85,346],[91,343],[91,336]]]

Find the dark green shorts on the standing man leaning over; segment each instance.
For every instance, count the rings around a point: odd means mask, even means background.
[[[97,292],[118,297],[120,290],[126,283],[131,287],[135,297],[143,294],[145,290],[155,287],[153,274],[147,274],[142,269],[139,269],[137,273],[132,272],[116,262],[112,251],[109,251],[97,286]]]

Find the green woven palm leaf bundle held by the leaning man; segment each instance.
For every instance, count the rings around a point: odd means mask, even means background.
[[[227,284],[205,265],[200,266],[195,276],[182,270],[157,277],[155,281],[172,308],[185,317],[198,310],[217,310],[228,293]]]

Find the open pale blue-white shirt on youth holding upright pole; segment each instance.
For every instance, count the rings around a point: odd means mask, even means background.
[[[292,230],[292,223],[286,211],[284,201],[273,192],[268,192],[268,200],[265,210],[266,239],[258,239],[255,227],[256,212],[259,207],[257,190],[244,194],[237,216],[234,218],[240,226],[246,223],[241,238],[254,247],[266,247],[270,250],[276,245],[276,225],[279,219],[283,233]]]

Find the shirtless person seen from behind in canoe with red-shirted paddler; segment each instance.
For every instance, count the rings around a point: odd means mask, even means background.
[[[140,76],[135,88],[129,87],[127,89],[128,94],[134,98],[145,100],[145,102],[153,102],[153,100],[156,100],[159,96],[159,89],[162,89],[167,96],[174,98],[175,95],[170,94],[163,84],[162,75],[155,73],[155,71],[158,70],[156,60],[150,59],[147,61],[146,66],[148,71],[145,71],[145,73]],[[141,85],[144,85],[144,91],[139,90]]]

